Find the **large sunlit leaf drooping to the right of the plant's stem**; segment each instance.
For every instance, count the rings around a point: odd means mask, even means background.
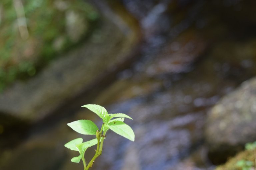
[[[134,141],[134,137],[135,137],[134,132],[132,128],[126,125],[125,123],[121,121],[114,121],[114,122],[110,122],[107,125],[107,127],[110,128],[112,131],[116,132],[117,134],[131,141]]]

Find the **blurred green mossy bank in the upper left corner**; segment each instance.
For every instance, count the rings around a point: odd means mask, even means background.
[[[1,0],[0,92],[79,42],[98,18],[82,0]]]

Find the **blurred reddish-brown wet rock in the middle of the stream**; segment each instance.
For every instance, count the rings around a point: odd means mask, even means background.
[[[207,42],[195,30],[187,30],[166,44],[156,59],[147,66],[146,73],[156,76],[187,72],[206,47]]]

